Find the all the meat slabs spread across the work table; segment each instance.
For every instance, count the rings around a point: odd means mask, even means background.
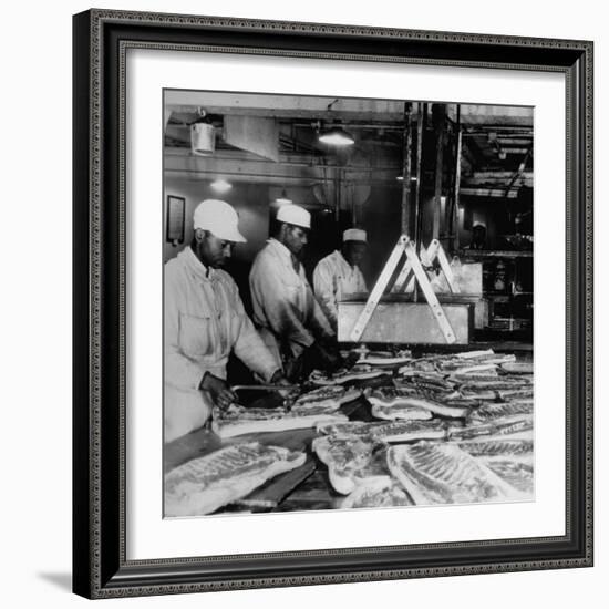
[[[340,406],[362,394],[373,421],[349,421]],[[514,355],[369,353],[314,372],[279,407],[215,409],[211,427],[230,445],[166,475],[165,515],[211,514],[301,466],[303,451],[239,436],[303,427],[343,508],[529,500],[533,421],[531,365]]]

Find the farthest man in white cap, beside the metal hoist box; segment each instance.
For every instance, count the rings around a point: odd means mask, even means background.
[[[313,287],[326,317],[336,329],[338,302],[347,295],[367,292],[360,265],[367,250],[365,230],[349,228],[342,234],[342,248],[322,258],[313,271]]]

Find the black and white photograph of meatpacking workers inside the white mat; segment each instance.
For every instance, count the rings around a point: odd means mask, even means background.
[[[163,516],[535,502],[534,107],[165,89],[158,124]]]

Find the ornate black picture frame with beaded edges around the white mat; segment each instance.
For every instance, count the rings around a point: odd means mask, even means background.
[[[592,564],[592,43],[91,10],[74,17],[74,591],[89,598]],[[125,52],[189,50],[565,74],[566,534],[130,561],[125,516]]]

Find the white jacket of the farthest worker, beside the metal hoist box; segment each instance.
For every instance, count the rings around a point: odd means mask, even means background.
[[[340,251],[322,258],[313,271],[316,297],[333,327],[338,321],[338,301],[348,293],[367,292],[362,271],[352,267]]]

